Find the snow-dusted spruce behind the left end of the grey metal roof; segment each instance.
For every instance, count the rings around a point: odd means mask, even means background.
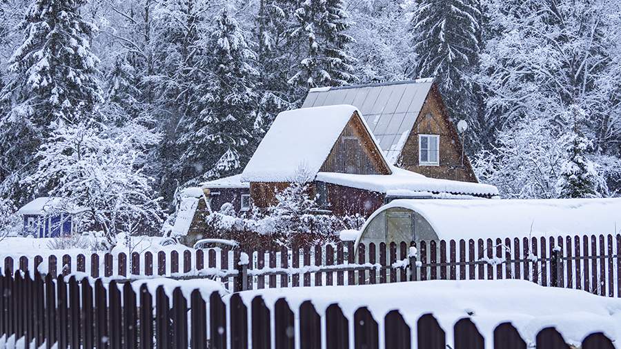
[[[289,79],[306,96],[308,88],[343,86],[355,81],[353,57],[348,45],[353,38],[346,34],[351,26],[343,0],[306,0],[295,10],[297,26],[293,37],[299,45],[297,72]]]

